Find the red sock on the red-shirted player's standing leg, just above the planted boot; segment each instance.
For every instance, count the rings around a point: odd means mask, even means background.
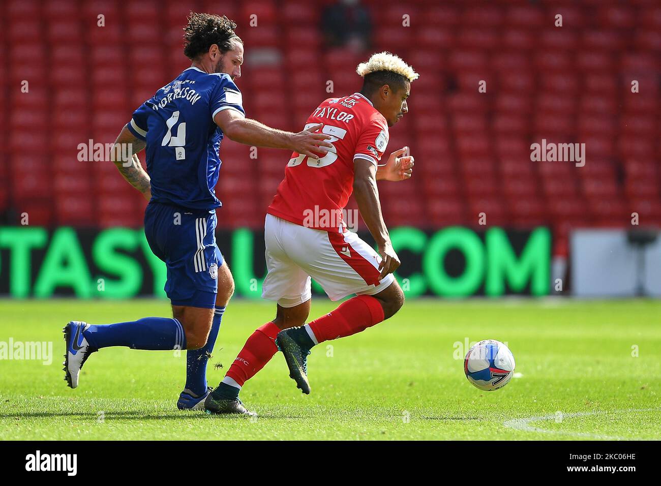
[[[254,331],[225,376],[229,376],[241,386],[253,378],[278,352],[276,336],[279,332],[280,328],[272,322]]]

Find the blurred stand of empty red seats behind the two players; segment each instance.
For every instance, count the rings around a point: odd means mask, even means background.
[[[323,8],[304,0],[5,3],[0,212],[29,203],[30,223],[141,225],[139,194],[112,163],[79,161],[77,147],[112,142],[139,104],[190,65],[182,55],[189,11],[237,20],[247,114],[278,128],[300,130],[323,99],[360,89],[355,68],[368,54],[327,49]],[[574,227],[629,227],[635,209],[641,222],[661,223],[654,0],[364,4],[372,50],[394,50],[420,73],[387,150],[411,147],[414,179],[379,183],[389,224],[475,226],[483,210],[490,225],[551,225],[563,247]],[[97,25],[101,13],[105,26]],[[15,89],[24,80],[29,93]],[[633,80],[639,93],[631,93]],[[542,138],[586,143],[585,167],[531,161],[530,145]],[[221,227],[262,227],[284,175],[289,153],[258,149],[251,159],[250,150],[222,144]]]

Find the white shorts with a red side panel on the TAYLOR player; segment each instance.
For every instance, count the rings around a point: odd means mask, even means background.
[[[393,274],[379,280],[381,256],[351,231],[328,233],[267,214],[264,242],[268,274],[262,298],[277,300],[282,307],[310,300],[310,277],[331,300],[371,296],[395,280]]]

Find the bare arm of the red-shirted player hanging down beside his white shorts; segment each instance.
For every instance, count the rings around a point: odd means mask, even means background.
[[[379,280],[399,267],[400,261],[390,242],[390,235],[379,202],[379,188],[376,186],[376,165],[365,159],[354,159],[354,195],[358,202],[358,210],[369,232],[379,245]]]

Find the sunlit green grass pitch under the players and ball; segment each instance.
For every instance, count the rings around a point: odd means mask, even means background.
[[[333,307],[316,299],[311,318]],[[103,349],[85,364],[79,387],[66,387],[61,328],[67,321],[148,315],[169,315],[169,304],[0,300],[0,341],[53,342],[50,365],[0,360],[1,438],[661,438],[661,302],[407,302],[385,323],[317,346],[309,362],[311,395],[296,389],[276,354],[241,393],[256,420],[178,411],[184,352]],[[210,360],[210,384],[272,315],[272,304],[231,302]],[[507,342],[516,358],[518,378],[498,391],[479,391],[463,374],[465,341],[481,339]]]

